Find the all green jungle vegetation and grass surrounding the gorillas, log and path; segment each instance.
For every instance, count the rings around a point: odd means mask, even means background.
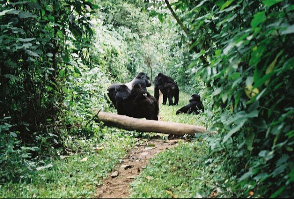
[[[216,133],[153,158],[131,197],[294,197],[292,0],[1,0],[0,198],[93,197],[152,139],[93,118],[139,72],[201,96],[165,121]]]

